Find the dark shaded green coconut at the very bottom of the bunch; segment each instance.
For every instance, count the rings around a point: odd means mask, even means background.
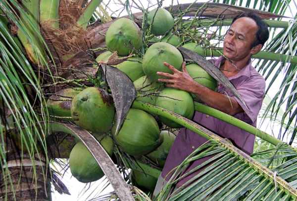
[[[157,184],[156,178],[137,170],[131,170],[130,175],[134,186],[145,193],[154,191],[154,188]]]

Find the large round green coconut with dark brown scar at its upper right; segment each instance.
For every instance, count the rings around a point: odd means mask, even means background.
[[[99,87],[84,89],[71,103],[71,117],[75,124],[96,133],[110,130],[114,114],[111,96]]]

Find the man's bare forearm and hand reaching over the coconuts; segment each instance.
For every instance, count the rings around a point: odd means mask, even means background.
[[[158,81],[165,82],[167,87],[178,88],[194,93],[208,106],[231,116],[244,112],[243,108],[238,104],[235,98],[230,97],[227,94],[213,91],[193,80],[186,69],[186,62],[183,62],[182,64],[182,72],[178,71],[168,63],[164,63],[164,65],[173,72],[173,75],[163,72],[157,72],[157,75],[168,78],[158,79]]]

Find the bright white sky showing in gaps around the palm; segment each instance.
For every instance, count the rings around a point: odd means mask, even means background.
[[[294,0],[293,0],[294,1]],[[103,2],[108,2],[107,0],[103,0]],[[136,0],[136,2],[140,5],[139,0]],[[148,1],[147,0],[141,0],[141,2],[143,3],[143,6],[148,6]],[[156,3],[156,0],[151,0],[152,4]],[[180,3],[192,3],[193,0],[180,0]],[[200,2],[200,1],[198,1]],[[171,0],[164,0],[163,1],[163,6],[169,6],[171,4]],[[173,0],[173,5],[177,4],[177,0]],[[119,1],[117,0],[111,0],[109,3],[109,7],[112,10],[117,10],[122,8],[122,5],[119,4]],[[154,7],[151,7],[151,9],[153,9]],[[292,9],[292,13],[296,12],[296,5],[292,5],[291,6]],[[132,12],[140,12],[139,9],[132,9]],[[127,12],[121,13],[121,16],[126,15]],[[286,16],[291,17],[292,14],[290,11],[288,11],[286,13]],[[276,83],[272,89],[276,90],[279,87],[279,83]],[[273,95],[273,94],[271,94]],[[260,122],[260,120],[258,120],[258,123]],[[272,125],[269,123],[269,121],[264,121],[264,123],[262,124],[262,126],[260,127],[261,130],[265,131],[265,132],[270,132],[272,133],[272,131],[274,133],[277,133],[279,127],[275,126],[272,127]],[[55,165],[55,167],[57,168],[57,170],[61,170],[60,168],[57,167],[57,165]],[[62,171],[63,172],[63,171]],[[92,182],[91,184],[84,184],[81,183],[79,181],[77,181],[76,178],[72,177],[70,170],[68,169],[62,178],[62,181],[64,182],[64,184],[68,187],[69,192],[71,193],[71,196],[68,195],[60,195],[57,192],[54,192],[52,194],[52,201],[86,201],[86,200],[90,200],[92,198],[94,198],[96,195],[99,194],[99,189],[102,189],[102,187],[104,186],[104,184],[106,184],[106,179],[103,177],[102,179],[100,179],[99,181],[96,182]],[[111,186],[108,186],[100,195],[106,194],[113,191]],[[86,192],[86,193],[85,193]]]

